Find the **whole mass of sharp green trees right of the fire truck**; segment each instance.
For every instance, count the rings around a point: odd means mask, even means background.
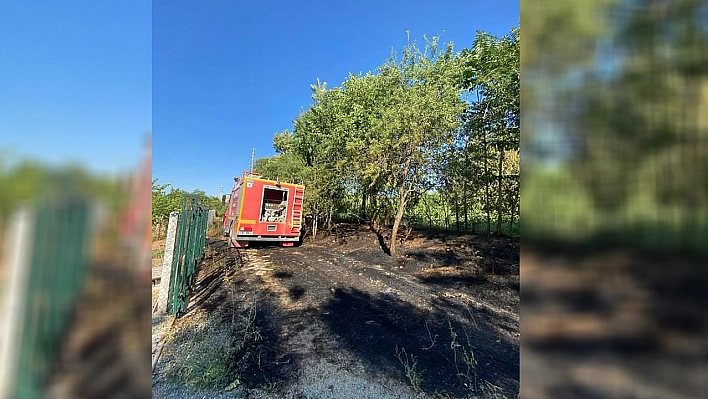
[[[518,222],[518,28],[503,38],[479,32],[461,52],[438,37],[422,48],[409,40],[375,71],[311,90],[292,131],[275,135],[278,154],[255,169],[305,183],[314,231],[337,216],[392,225],[395,254],[402,225],[432,227],[432,204],[446,217],[455,209],[458,230],[462,219],[474,229],[479,209],[488,231],[492,215],[497,233]]]

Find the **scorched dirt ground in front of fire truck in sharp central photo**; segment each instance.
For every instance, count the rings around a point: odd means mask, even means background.
[[[258,342],[235,353],[228,392],[167,382],[168,345],[153,396],[518,397],[518,240],[414,232],[390,257],[381,239],[346,224],[296,248],[212,239],[183,319],[234,320],[253,298]]]

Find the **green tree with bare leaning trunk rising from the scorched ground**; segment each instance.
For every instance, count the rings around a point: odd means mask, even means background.
[[[397,190],[398,206],[389,249],[396,253],[396,237],[411,193],[430,187],[430,169],[439,148],[450,144],[461,123],[464,104],[456,79],[459,64],[453,62],[452,43],[439,51],[438,39],[421,51],[415,43],[403,50],[400,62],[389,61],[382,73],[398,87],[394,105],[383,110],[387,129],[383,141],[391,171],[389,184]]]

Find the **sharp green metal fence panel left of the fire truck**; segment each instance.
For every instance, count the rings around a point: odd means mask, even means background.
[[[177,223],[168,311],[176,316],[187,310],[189,291],[197,263],[204,255],[209,210],[197,196],[186,195]]]

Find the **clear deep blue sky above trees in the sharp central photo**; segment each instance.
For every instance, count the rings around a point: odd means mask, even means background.
[[[441,34],[455,49],[477,30],[519,24],[517,1],[153,2],[153,178],[228,192],[272,137],[292,129],[316,79],[339,86],[411,39]]]

